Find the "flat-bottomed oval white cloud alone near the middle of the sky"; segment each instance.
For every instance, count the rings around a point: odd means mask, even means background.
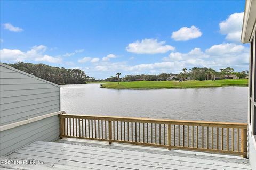
[[[165,45],[165,41],[157,41],[157,39],[143,39],[141,41],[137,40],[134,43],[128,44],[126,47],[127,52],[137,53],[137,54],[157,54],[166,53],[173,51],[175,47],[170,45]]]

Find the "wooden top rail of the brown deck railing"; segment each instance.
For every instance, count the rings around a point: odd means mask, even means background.
[[[74,115],[62,114],[61,117],[68,118],[86,118],[93,120],[106,121],[126,121],[126,122],[141,122],[141,123],[160,123],[160,124],[177,124],[177,125],[195,125],[195,126],[215,126],[227,128],[247,128],[247,123],[236,122],[210,122],[210,121],[188,121],[188,120],[171,120],[171,119],[156,119],[156,118],[142,118],[142,117],[121,117],[121,116],[95,116],[95,115]]]

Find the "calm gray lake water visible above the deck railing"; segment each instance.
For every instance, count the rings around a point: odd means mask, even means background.
[[[61,86],[68,114],[247,122],[247,87],[102,89],[100,84]]]

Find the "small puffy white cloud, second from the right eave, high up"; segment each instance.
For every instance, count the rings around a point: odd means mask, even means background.
[[[191,26],[188,27],[182,27],[178,31],[172,32],[171,38],[175,41],[187,41],[190,39],[195,39],[202,36],[202,32],[199,30],[198,27]]]

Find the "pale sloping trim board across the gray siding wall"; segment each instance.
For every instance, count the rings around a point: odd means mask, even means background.
[[[17,126],[25,125],[25,124],[28,124],[28,123],[31,123],[31,122],[39,121],[39,120],[42,120],[42,119],[47,118],[47,117],[52,117],[52,116],[55,116],[55,115],[59,115],[59,114],[65,114],[65,111],[53,112],[53,113],[49,113],[49,114],[42,115],[42,116],[28,118],[27,120],[23,120],[23,121],[11,123],[11,124],[6,124],[6,125],[3,125],[3,126],[0,126],[0,132],[11,129],[11,128],[15,128]]]

